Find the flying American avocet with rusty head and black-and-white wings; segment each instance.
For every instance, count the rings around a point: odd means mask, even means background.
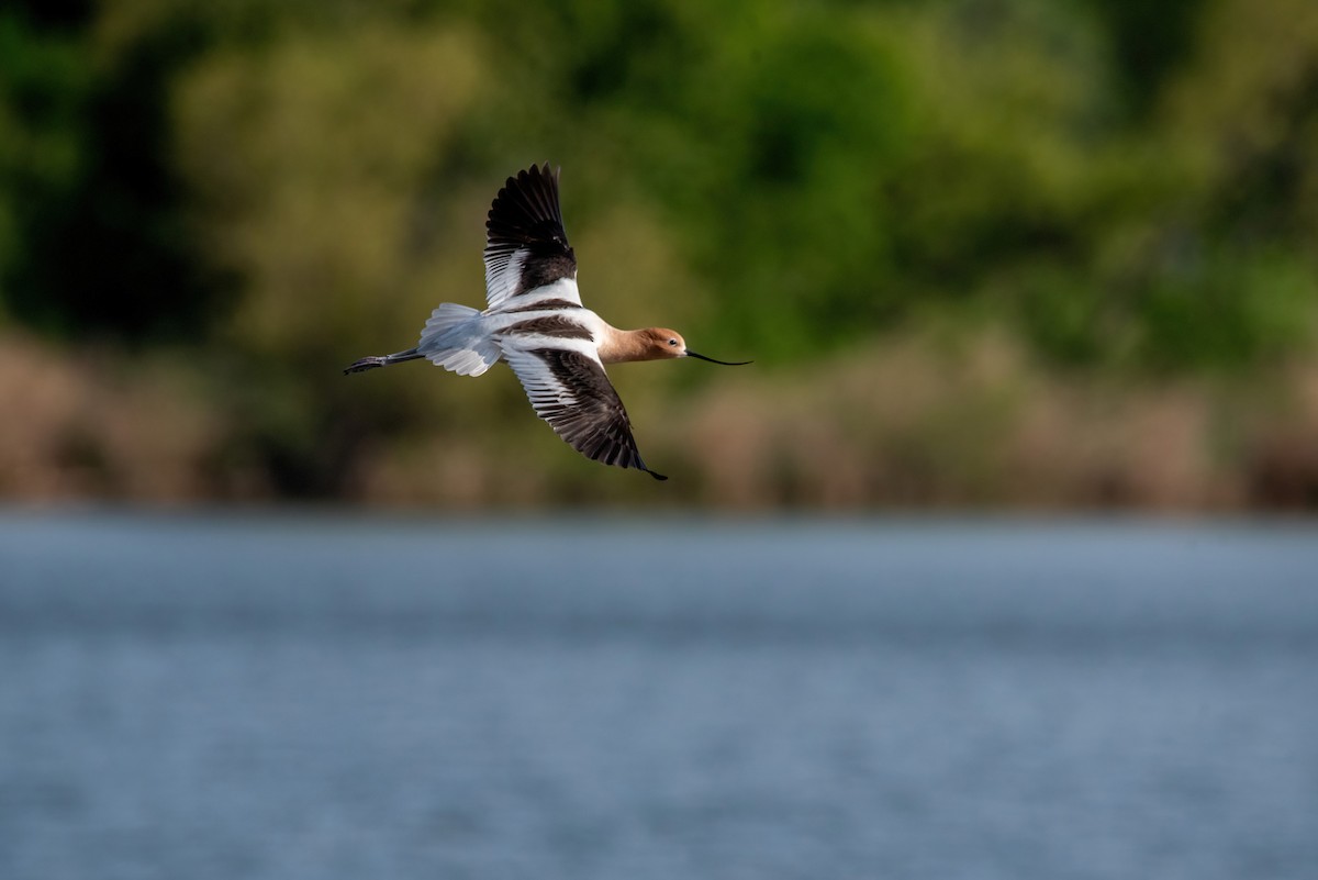
[[[681,333],[663,327],[622,331],[581,306],[576,256],[563,231],[559,175],[531,166],[509,178],[485,221],[485,311],[440,303],[416,348],[364,357],[344,370],[426,358],[459,375],[480,375],[501,358],[526,389],[535,414],[587,458],[646,468],[631,422],[605,364],[695,357]]]

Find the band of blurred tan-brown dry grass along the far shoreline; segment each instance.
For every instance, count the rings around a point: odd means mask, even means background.
[[[202,377],[169,358],[3,337],[0,497],[270,498],[260,462],[227,448],[235,416]],[[1053,374],[998,333],[960,345],[912,333],[828,362],[709,374],[693,391],[664,381],[625,377],[643,452],[672,476],[662,487],[579,461],[526,412],[515,424],[481,422],[480,436],[463,420],[376,435],[356,449],[345,495],[327,501],[1318,507],[1318,360],[1249,382],[1135,382]]]

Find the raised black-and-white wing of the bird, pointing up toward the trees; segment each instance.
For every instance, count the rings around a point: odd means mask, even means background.
[[[490,308],[510,296],[567,279],[556,299],[580,306],[576,290],[576,256],[563,231],[559,207],[559,175],[531,166],[509,178],[494,196],[485,220],[485,298]]]

